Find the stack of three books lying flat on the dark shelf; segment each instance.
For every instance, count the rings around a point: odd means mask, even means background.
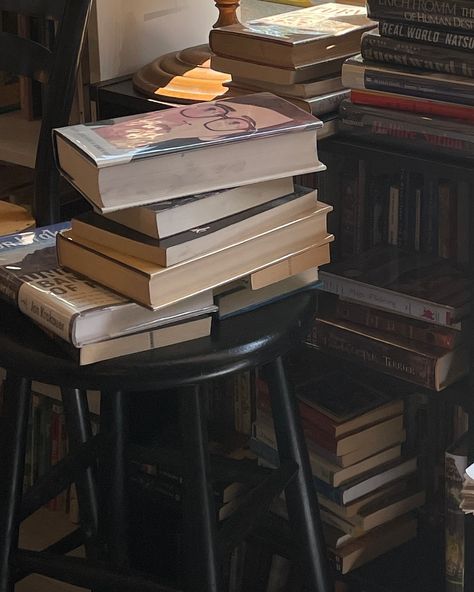
[[[469,281],[447,259],[379,246],[321,280],[339,298],[322,306],[309,343],[437,391],[467,373]]]

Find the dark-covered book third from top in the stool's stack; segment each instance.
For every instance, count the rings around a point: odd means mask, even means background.
[[[224,249],[247,238],[271,230],[312,212],[317,192],[298,187],[279,197],[229,216],[164,239],[156,239],[132,230],[94,212],[86,212],[71,222],[72,237],[157,263],[163,267]],[[321,218],[322,224],[325,222]],[[319,228],[315,229],[319,233]]]

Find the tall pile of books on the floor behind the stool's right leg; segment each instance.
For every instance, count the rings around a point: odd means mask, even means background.
[[[425,492],[417,458],[403,451],[404,401],[340,372],[297,385],[296,394],[326,543],[336,569],[347,573],[416,536],[412,511]],[[260,464],[278,465],[261,380],[250,447]],[[274,511],[284,515],[284,504]]]

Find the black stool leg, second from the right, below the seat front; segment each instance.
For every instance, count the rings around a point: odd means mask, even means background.
[[[216,509],[209,468],[207,418],[198,386],[180,389],[186,592],[221,592]]]

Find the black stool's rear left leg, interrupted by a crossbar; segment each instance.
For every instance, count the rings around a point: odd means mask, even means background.
[[[69,449],[72,452],[92,438],[87,394],[85,391],[69,388],[61,389],[61,394]],[[81,480],[76,483],[76,490],[81,529],[86,539],[87,557],[97,559],[99,555],[97,548],[99,508],[96,476],[92,467],[88,468]]]

